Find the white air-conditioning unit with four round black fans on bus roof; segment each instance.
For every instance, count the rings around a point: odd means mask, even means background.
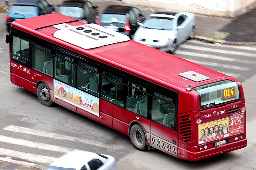
[[[97,48],[130,40],[127,35],[96,24],[71,26],[64,23],[54,25],[53,27],[59,29],[53,35],[55,38],[84,49]]]

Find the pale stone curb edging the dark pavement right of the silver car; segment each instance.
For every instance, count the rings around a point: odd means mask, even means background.
[[[228,44],[228,45],[256,45],[256,42],[240,42],[240,41],[225,41],[225,40],[216,40],[213,38],[208,38],[200,35],[195,35],[194,39],[201,40],[209,43],[220,43],[220,44]]]

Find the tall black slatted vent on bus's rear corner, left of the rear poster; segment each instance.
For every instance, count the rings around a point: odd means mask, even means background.
[[[191,141],[191,116],[180,116],[180,140],[183,142]]]

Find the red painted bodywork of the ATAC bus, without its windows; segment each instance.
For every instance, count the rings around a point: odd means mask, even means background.
[[[53,25],[61,23],[68,23],[72,26],[84,25],[83,22],[56,13],[12,22],[11,33],[13,29],[19,30],[176,92],[178,95],[176,130],[99,97],[99,116],[94,115],[72,103],[54,97],[54,80],[52,77],[24,65],[22,66],[22,64],[10,59],[10,79],[13,84],[36,94],[37,84],[44,82],[50,90],[52,102],[126,135],[130,135],[132,125],[138,123],[145,131],[148,146],[180,159],[196,161],[244,148],[247,145],[244,92],[238,80],[132,40],[98,48],[83,49],[53,36],[58,31]],[[12,56],[11,43],[10,56]],[[195,82],[179,75],[191,70],[209,77],[209,79]],[[199,95],[194,87],[227,79],[236,82],[238,85],[240,90],[239,100],[200,108]],[[191,90],[187,88],[188,85],[192,87]],[[229,123],[228,127],[233,130],[233,134],[229,131],[229,136],[224,135],[225,137],[223,137],[222,135],[219,138],[215,137],[214,140],[209,139],[209,141],[203,142],[199,140],[200,130],[204,126],[210,127],[214,124],[224,124],[224,122]],[[236,131],[239,128],[241,131]],[[214,146],[214,143],[216,144],[216,142],[223,139],[225,140],[224,144],[220,143]]]

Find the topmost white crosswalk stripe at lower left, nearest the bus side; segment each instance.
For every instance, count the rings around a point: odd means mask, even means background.
[[[76,141],[76,142],[82,142],[84,144],[90,144],[90,145],[94,145],[94,146],[98,146],[101,148],[108,148],[108,146],[105,146],[105,144],[94,140],[84,140],[78,137],[71,137],[71,136],[67,136],[67,135],[60,135],[57,133],[52,133],[52,132],[45,132],[42,130],[35,130],[35,129],[29,129],[29,128],[24,128],[24,127],[20,127],[20,126],[14,126],[14,125],[9,125],[3,128],[4,130],[8,130],[8,131],[15,131],[15,132],[19,132],[19,133],[25,133],[25,134],[29,134],[29,135],[36,135],[36,136],[41,136],[41,137],[49,137],[52,139],[59,139],[59,140],[69,140],[69,141]],[[115,146],[118,147],[118,146]]]

